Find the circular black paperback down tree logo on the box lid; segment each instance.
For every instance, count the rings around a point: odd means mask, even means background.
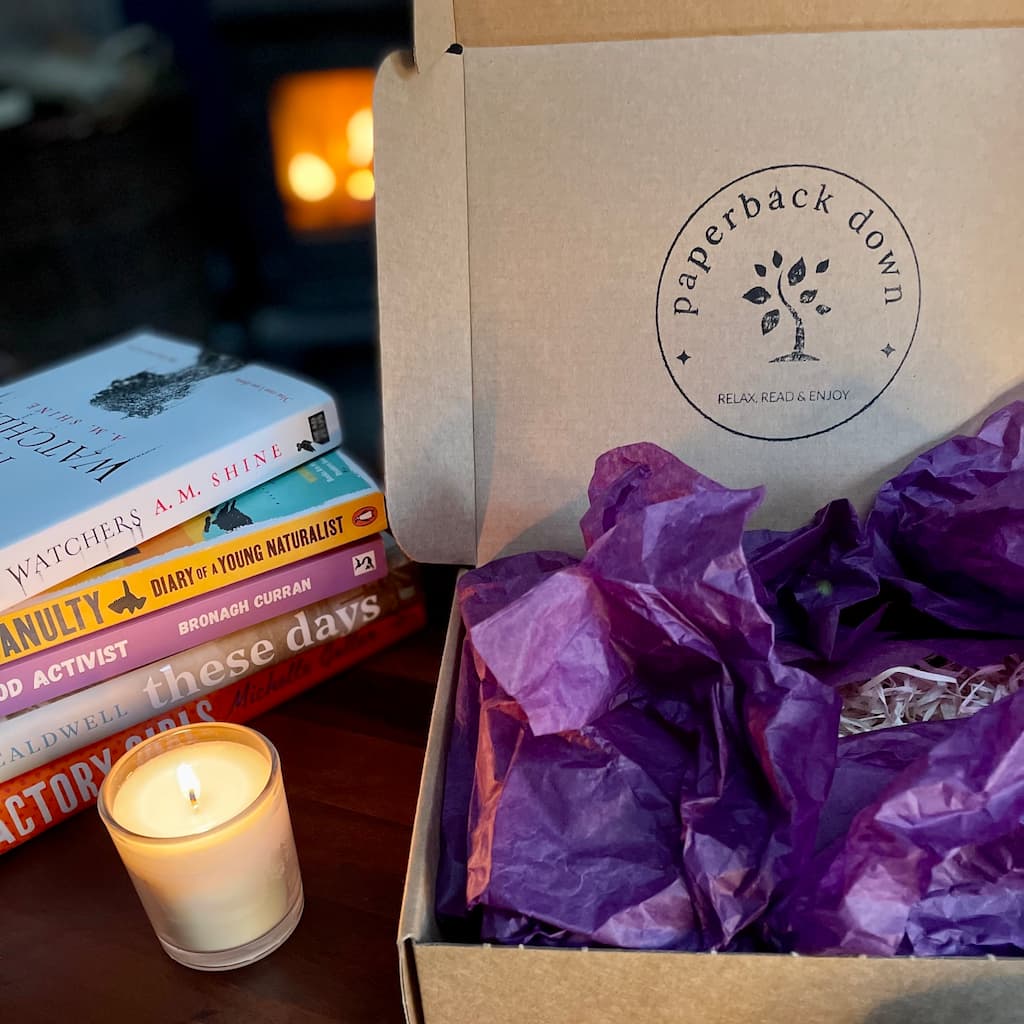
[[[921,271],[896,211],[842,171],[768,167],[705,200],[657,284],[657,340],[682,396],[744,437],[834,430],[913,344]]]

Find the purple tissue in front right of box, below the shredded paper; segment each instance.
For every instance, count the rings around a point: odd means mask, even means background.
[[[769,918],[777,947],[1024,953],[1024,690],[972,718],[844,739],[821,831]]]

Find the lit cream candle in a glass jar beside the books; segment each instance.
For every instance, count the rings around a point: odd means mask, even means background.
[[[273,745],[203,723],[158,733],[111,770],[98,807],[164,949],[222,971],[265,956],[302,913]]]

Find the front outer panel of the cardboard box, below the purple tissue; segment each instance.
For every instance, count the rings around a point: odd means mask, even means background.
[[[1020,961],[431,942],[416,954],[425,1024],[1016,1024],[1024,997]]]

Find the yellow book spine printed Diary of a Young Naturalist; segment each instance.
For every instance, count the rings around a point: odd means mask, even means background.
[[[301,558],[371,537],[387,525],[379,490],[347,497],[254,530],[226,534],[199,550],[90,581],[0,614],[0,666],[249,580]]]

